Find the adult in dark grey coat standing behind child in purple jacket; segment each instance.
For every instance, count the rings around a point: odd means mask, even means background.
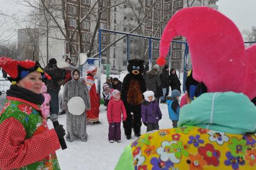
[[[157,90],[159,88],[162,90],[162,88],[160,87],[161,80],[159,76],[159,65],[156,64],[152,67],[152,70],[147,71],[145,82],[147,90],[153,91],[157,101],[159,101],[159,98],[162,96],[162,93],[160,94]]]

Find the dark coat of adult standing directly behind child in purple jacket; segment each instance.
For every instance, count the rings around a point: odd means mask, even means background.
[[[156,88],[160,87],[161,85],[161,80],[158,71],[154,69],[147,71],[145,82],[147,90],[153,91],[154,94],[156,94]],[[159,95],[156,94],[156,97],[157,96]]]

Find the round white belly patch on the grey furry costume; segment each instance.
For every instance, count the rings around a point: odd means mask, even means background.
[[[82,115],[85,112],[85,103],[81,97],[72,97],[67,102],[67,110],[72,115]]]

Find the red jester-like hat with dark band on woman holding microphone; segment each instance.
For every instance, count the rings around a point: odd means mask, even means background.
[[[31,61],[26,59],[25,61],[17,61],[15,59],[1,57],[0,67],[10,76],[8,80],[13,85],[23,79],[26,75],[33,71],[38,71],[44,76],[44,71],[39,62]]]

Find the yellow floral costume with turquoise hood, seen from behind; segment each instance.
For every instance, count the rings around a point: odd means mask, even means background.
[[[255,124],[256,108],[247,96],[204,93],[180,110],[178,128],[128,145],[116,170],[256,169]]]

